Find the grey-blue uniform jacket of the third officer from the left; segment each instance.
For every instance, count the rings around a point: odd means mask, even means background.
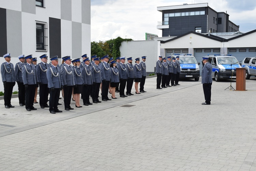
[[[23,79],[23,84],[37,84],[38,83],[38,78],[37,78],[37,71],[35,69],[35,65],[31,64],[31,66],[26,63],[22,67],[22,79]]]

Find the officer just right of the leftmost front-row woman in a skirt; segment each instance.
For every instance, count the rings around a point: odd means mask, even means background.
[[[82,68],[82,74],[84,79],[84,86],[83,86],[83,103],[85,106],[91,105],[93,103],[90,102],[90,94],[91,94],[91,88],[93,85],[93,77],[91,75],[91,69],[89,67],[90,60],[89,58],[86,58],[83,60],[85,63],[84,67]]]

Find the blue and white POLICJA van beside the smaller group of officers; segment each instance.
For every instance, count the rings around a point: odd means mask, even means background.
[[[196,58],[192,54],[174,54],[174,56],[180,56],[180,78],[199,80],[200,77],[200,62],[197,62]]]

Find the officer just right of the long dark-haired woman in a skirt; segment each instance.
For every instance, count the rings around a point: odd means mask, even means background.
[[[118,72],[119,72],[119,95],[120,97],[127,97],[125,95],[125,85],[128,79],[128,72],[125,66],[125,56],[120,58],[120,65],[118,65]]]

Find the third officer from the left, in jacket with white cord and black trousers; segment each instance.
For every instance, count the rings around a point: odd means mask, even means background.
[[[25,104],[27,111],[37,110],[33,106],[35,87],[38,83],[35,66],[32,63],[32,55],[25,57],[27,63],[22,67],[22,79],[25,85]]]

